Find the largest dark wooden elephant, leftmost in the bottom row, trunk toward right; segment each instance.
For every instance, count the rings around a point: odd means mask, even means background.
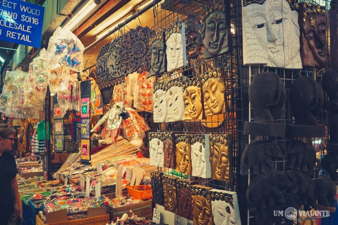
[[[280,171],[272,171],[258,174],[250,180],[246,190],[246,204],[250,212],[257,209],[266,209],[266,202],[270,205],[286,202],[282,191],[294,185],[295,180],[289,179]]]

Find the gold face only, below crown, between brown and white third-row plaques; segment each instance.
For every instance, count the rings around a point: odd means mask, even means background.
[[[185,174],[191,174],[191,145],[185,142],[176,144],[176,171]]]

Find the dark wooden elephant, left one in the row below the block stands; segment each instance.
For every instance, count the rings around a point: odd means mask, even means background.
[[[286,149],[276,141],[257,141],[248,144],[242,153],[240,174],[255,174],[268,171],[274,171],[275,166],[272,159],[278,157],[284,158],[287,155]]]

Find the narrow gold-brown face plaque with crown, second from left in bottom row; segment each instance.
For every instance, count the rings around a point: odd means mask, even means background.
[[[178,177],[162,176],[164,209],[175,214],[177,214],[177,179]]]

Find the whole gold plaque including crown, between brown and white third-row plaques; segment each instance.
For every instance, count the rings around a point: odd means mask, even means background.
[[[175,134],[176,143],[176,172],[191,174],[191,145],[189,136],[185,134]]]

